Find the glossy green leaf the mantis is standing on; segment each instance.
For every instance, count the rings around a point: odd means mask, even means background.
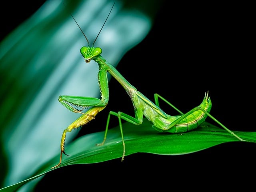
[[[181,155],[197,152],[226,142],[240,142],[225,130],[204,122],[198,129],[182,133],[169,134],[156,132],[144,118],[142,125],[136,126],[125,122],[123,124],[126,156],[138,152],[146,152],[160,155]],[[256,143],[256,132],[239,132],[235,134],[249,142]],[[89,164],[112,160],[122,157],[123,148],[119,126],[108,131],[107,140],[103,146],[95,144],[102,142],[104,132],[96,132],[82,136],[66,146],[66,153],[70,156],[62,158],[62,164],[58,167],[72,164]],[[38,178],[51,169],[59,161],[59,154],[44,164],[31,178],[2,188],[0,191],[9,192],[18,189],[26,182]]]

